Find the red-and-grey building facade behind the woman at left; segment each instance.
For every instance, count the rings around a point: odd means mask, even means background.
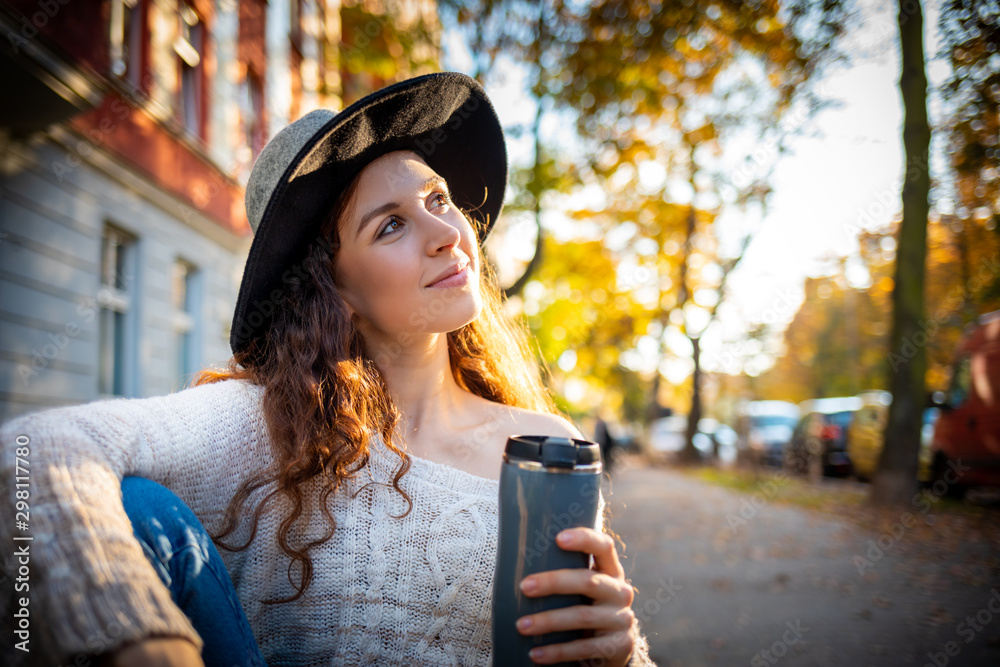
[[[254,158],[312,109],[432,69],[435,12],[423,0],[0,2],[0,421],[168,393],[224,365]],[[397,67],[345,62],[384,58],[400,21],[424,37]]]

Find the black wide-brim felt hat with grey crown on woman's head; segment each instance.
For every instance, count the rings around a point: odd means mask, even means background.
[[[375,158],[411,150],[441,175],[468,211],[480,243],[496,223],[507,185],[503,129],[489,98],[464,74],[393,84],[340,113],[306,114],[264,147],[250,172],[247,219],[253,244],[229,344],[246,350],[271,324],[284,283],[301,268],[337,197]]]

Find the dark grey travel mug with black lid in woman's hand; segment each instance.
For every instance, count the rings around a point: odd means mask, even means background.
[[[520,586],[535,572],[590,567],[589,554],[563,550],[556,535],[566,528],[594,527],[600,489],[601,450],[595,443],[533,435],[507,440],[493,578],[494,665],[531,665],[528,652],[536,646],[584,637],[583,631],[525,636],[515,624],[528,614],[590,604],[583,595],[529,598]]]

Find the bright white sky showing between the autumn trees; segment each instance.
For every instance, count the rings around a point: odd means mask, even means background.
[[[898,217],[901,207],[902,108],[895,4],[859,3],[862,20],[844,42],[849,62],[818,82],[823,97],[836,104],[812,116],[807,131],[793,137],[790,150],[778,158],[771,179],[774,193],[741,265],[729,278],[718,324],[703,337],[706,370],[738,372],[735,359],[743,355],[733,354],[734,347],[759,322],[771,327],[770,349],[761,349],[747,370],[756,373],[773,362],[773,354],[780,350],[780,334],[803,299],[805,279],[829,274],[831,256],[848,257],[848,280],[856,286],[865,284],[867,276],[856,260],[857,233],[884,227]],[[947,74],[945,64],[934,58],[937,4],[926,3],[924,9],[931,86]],[[458,37],[446,35],[447,67],[471,69],[462,51]],[[506,67],[503,84],[488,85],[487,93],[505,126],[525,123],[534,115],[534,103],[523,74]],[[932,123],[933,111],[932,105]],[[530,143],[523,139],[509,140],[508,150],[512,162],[526,163],[532,156]],[[940,168],[932,164],[932,173],[940,173]],[[719,231],[724,233],[724,228]],[[509,235],[511,240],[499,254],[530,256],[530,224],[525,224],[525,232]],[[672,382],[681,382],[691,370],[686,358],[690,347],[682,336],[667,340],[675,355],[661,371]],[[736,352],[748,349],[743,346]]]

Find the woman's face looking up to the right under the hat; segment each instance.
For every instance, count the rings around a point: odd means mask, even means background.
[[[370,342],[405,345],[479,315],[476,234],[416,153],[388,153],[364,168],[339,232],[337,282]]]

